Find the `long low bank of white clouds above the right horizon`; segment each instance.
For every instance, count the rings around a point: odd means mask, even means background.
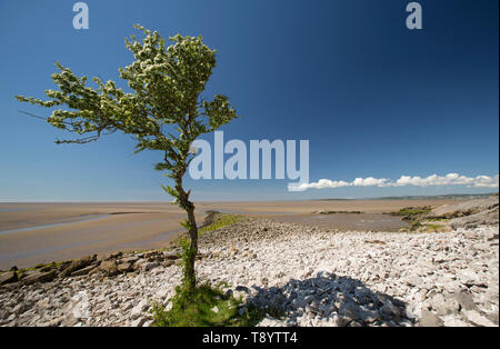
[[[401,176],[398,180],[389,178],[357,178],[353,181],[320,179],[311,183],[289,183],[289,191],[304,191],[308,189],[334,189],[342,187],[430,187],[430,186],[467,186],[474,188],[498,188],[499,176],[477,176],[467,177],[458,173],[448,173],[446,176],[432,174],[426,178],[420,176]]]

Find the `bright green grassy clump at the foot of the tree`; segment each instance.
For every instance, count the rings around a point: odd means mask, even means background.
[[[172,307],[166,310],[153,305],[153,326],[157,327],[251,327],[256,326],[267,313],[279,318],[281,310],[259,309],[247,306],[242,309],[241,299],[226,295],[220,287],[202,285],[194,292],[187,293],[177,288],[170,299]]]

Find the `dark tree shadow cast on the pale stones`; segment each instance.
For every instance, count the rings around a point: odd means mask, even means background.
[[[291,279],[281,287],[237,287],[236,293],[268,310],[261,326],[413,326],[406,303],[373,291],[360,280],[319,272],[316,278]],[[238,295],[236,295],[238,296]],[[281,313],[286,320],[271,317]]]

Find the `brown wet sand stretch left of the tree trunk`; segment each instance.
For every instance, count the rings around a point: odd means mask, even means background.
[[[161,248],[180,232],[169,203],[0,205],[0,269],[120,250]],[[16,210],[14,210],[16,208]],[[197,219],[202,221],[200,211]]]

